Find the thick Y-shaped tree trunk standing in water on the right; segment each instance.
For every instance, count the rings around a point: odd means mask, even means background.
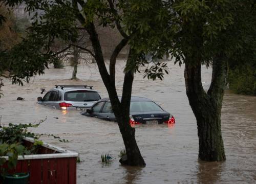
[[[206,93],[201,82],[201,61],[185,62],[186,94],[196,116],[199,137],[199,159],[225,160],[221,135],[221,107],[225,89],[226,58],[218,55],[212,64],[211,85]]]

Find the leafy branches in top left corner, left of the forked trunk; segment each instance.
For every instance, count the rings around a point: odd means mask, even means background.
[[[12,6],[20,1],[6,2]],[[75,41],[77,37],[74,12],[69,1],[65,1],[61,7],[48,1],[24,3],[27,4],[26,10],[31,13],[39,7],[44,8],[45,12],[34,12],[28,36],[11,50],[0,54],[0,74],[8,72],[4,76],[11,77],[13,83],[21,85],[23,79],[29,82],[33,75],[44,74],[48,63],[56,62],[56,55],[50,50],[54,38]]]

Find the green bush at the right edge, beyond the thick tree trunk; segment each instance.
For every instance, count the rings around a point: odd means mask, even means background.
[[[236,94],[256,95],[256,68],[248,64],[229,69],[228,83]]]

